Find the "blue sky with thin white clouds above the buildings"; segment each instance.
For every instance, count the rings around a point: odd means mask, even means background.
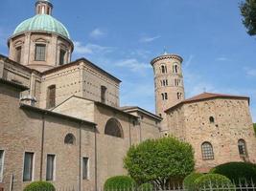
[[[86,57],[123,82],[121,104],[154,112],[151,59],[184,58],[186,97],[207,92],[250,96],[256,121],[256,40],[241,22],[239,0],[52,0],[54,16]],[[35,14],[35,0],[2,0],[0,53],[7,38]]]

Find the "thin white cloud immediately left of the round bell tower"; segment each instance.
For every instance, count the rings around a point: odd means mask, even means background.
[[[128,68],[132,72],[144,72],[151,69],[151,65],[144,62],[139,62],[136,58],[128,58],[115,61],[115,66]]]

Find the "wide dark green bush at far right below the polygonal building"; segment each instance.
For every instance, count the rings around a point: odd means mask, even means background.
[[[220,174],[236,184],[256,182],[256,164],[248,162],[228,162],[213,168],[210,173]]]

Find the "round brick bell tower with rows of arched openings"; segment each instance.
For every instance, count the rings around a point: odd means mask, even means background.
[[[155,113],[163,117],[162,131],[167,131],[165,110],[184,99],[182,75],[182,57],[173,53],[164,53],[151,60],[154,73]]]

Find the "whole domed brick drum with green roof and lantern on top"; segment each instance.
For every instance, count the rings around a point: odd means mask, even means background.
[[[73,42],[52,12],[49,0],[35,3],[35,16],[21,22],[8,40],[12,60],[40,72],[70,62]]]

